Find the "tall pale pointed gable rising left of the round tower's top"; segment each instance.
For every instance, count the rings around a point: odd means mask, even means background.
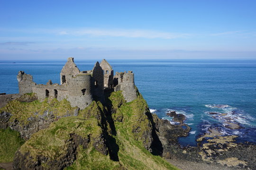
[[[68,58],[66,64],[61,70],[60,76],[61,76],[61,85],[66,83],[68,84],[69,81],[73,76],[76,76],[80,73],[80,70],[76,67],[74,63],[74,58],[70,57]]]

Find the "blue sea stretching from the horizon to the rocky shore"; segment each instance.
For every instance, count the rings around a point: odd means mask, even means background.
[[[114,73],[132,70],[135,84],[152,113],[177,124],[166,113],[186,116],[191,127],[183,146],[210,128],[223,135],[237,135],[238,142],[256,143],[256,60],[108,60]],[[51,79],[60,83],[65,60],[0,61],[0,93],[18,93],[19,70],[33,76],[37,84]],[[96,60],[75,60],[77,67],[91,70]],[[209,114],[217,112],[218,114]],[[219,116],[224,113],[225,116]],[[227,121],[241,128],[230,129]]]

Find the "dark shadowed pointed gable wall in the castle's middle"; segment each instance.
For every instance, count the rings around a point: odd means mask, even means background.
[[[92,78],[94,81],[93,94],[96,99],[104,103],[104,75],[100,63],[97,61],[92,69]]]

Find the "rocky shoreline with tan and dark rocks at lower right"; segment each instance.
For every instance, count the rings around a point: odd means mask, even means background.
[[[213,116],[226,116],[223,113],[217,112],[209,112],[209,114]],[[184,125],[184,115],[180,116],[181,114],[177,114],[174,110],[169,111],[166,115],[173,117],[173,121],[179,122],[181,125]],[[230,121],[232,119],[228,118],[228,120]],[[234,120],[230,121],[229,123],[230,124],[228,128],[230,129],[243,128],[238,123],[234,122]],[[238,143],[236,141],[237,137],[238,136],[236,135],[224,135],[220,132],[220,129],[218,128],[209,128],[208,132],[197,137],[196,147],[182,147],[178,143],[171,144],[171,147],[168,147],[168,150],[170,151],[169,153],[172,154],[167,159],[170,159],[169,162],[171,163],[175,162],[173,160],[186,160],[190,162],[197,162],[194,163],[196,166],[199,166],[200,163],[207,165],[209,164],[211,166],[222,167],[222,169],[225,170],[255,170],[256,144],[252,144],[249,142]],[[182,166],[180,168],[182,168]],[[191,167],[187,167],[185,169],[190,170]],[[205,169],[202,167],[199,169],[209,170],[206,167]]]

